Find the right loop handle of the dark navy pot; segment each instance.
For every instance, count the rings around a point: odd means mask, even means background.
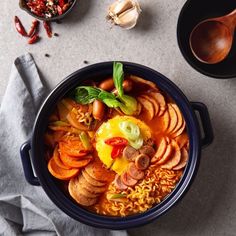
[[[208,109],[206,105],[201,102],[190,102],[190,103],[192,108],[198,112],[201,119],[201,125],[204,132],[204,136],[201,140],[202,147],[207,147],[209,144],[213,142],[214,139],[214,134],[211,126],[211,120]]]

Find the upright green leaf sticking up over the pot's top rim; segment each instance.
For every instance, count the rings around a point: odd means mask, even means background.
[[[123,71],[123,64],[120,62],[113,63],[113,80],[115,87],[118,91],[118,95],[122,97],[124,95],[123,91],[124,71]]]

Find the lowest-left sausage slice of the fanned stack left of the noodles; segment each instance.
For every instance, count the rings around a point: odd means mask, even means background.
[[[94,205],[98,198],[90,198],[90,197],[86,197],[84,196],[82,193],[80,193],[78,191],[78,179],[76,178],[72,178],[69,182],[69,186],[68,186],[68,190],[69,193],[71,195],[71,197],[78,202],[79,204],[83,205],[83,206],[92,206]]]

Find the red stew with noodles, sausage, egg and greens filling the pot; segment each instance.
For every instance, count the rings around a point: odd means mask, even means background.
[[[45,133],[48,170],[80,206],[142,213],[167,197],[189,158],[184,117],[151,81],[124,74],[86,81],[61,99]]]

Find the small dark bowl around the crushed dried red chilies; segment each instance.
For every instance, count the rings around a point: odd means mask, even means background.
[[[74,0],[73,3],[71,4],[71,6],[63,14],[58,15],[58,16],[54,16],[54,17],[50,17],[50,18],[41,17],[41,16],[38,16],[38,15],[34,14],[30,10],[30,8],[27,6],[26,0],[19,0],[19,6],[22,10],[26,11],[29,15],[33,16],[36,19],[39,19],[39,20],[42,20],[42,21],[57,21],[57,20],[61,20],[68,13],[70,13],[72,8],[75,6],[76,2],[77,2],[77,0]]]

